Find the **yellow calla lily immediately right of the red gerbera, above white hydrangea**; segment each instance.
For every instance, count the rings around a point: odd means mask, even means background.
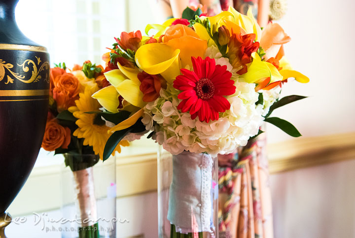
[[[248,72],[241,76],[246,82],[258,83],[259,80],[268,77],[270,77],[270,83],[283,79],[277,68],[273,64],[261,61],[256,52],[253,52],[251,57],[253,61],[248,66]]]

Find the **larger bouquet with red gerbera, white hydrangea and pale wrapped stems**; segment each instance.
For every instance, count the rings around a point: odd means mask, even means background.
[[[149,24],[149,37],[123,32],[103,56],[111,85],[93,94],[112,122],[104,159],[129,133],[149,133],[173,155],[170,237],[217,236],[214,157],[245,146],[263,121],[300,136],[269,116],[304,98],[277,101],[284,82],[309,81],[285,59],[282,45],[290,39],[280,25],[261,30],[250,11],[231,7],[213,17],[201,13],[186,8],[182,19]]]

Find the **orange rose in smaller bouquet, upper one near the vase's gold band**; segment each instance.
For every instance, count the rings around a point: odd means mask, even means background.
[[[58,75],[54,79],[53,99],[57,103],[58,112],[75,105],[80,89],[79,80],[70,73]]]

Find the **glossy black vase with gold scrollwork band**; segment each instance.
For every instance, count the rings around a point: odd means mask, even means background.
[[[0,217],[36,162],[49,98],[49,54],[17,27],[17,2],[0,0]]]

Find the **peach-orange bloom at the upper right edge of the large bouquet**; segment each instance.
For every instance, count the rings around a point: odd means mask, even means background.
[[[290,41],[284,29],[277,23],[269,23],[262,31],[260,46],[264,49],[265,59],[275,57],[284,43]]]

